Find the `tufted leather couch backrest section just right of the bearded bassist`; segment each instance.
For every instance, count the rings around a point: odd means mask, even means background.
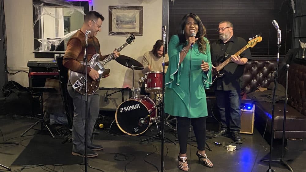
[[[257,87],[268,87],[274,81],[276,61],[251,60],[245,64],[242,91],[250,93]]]

